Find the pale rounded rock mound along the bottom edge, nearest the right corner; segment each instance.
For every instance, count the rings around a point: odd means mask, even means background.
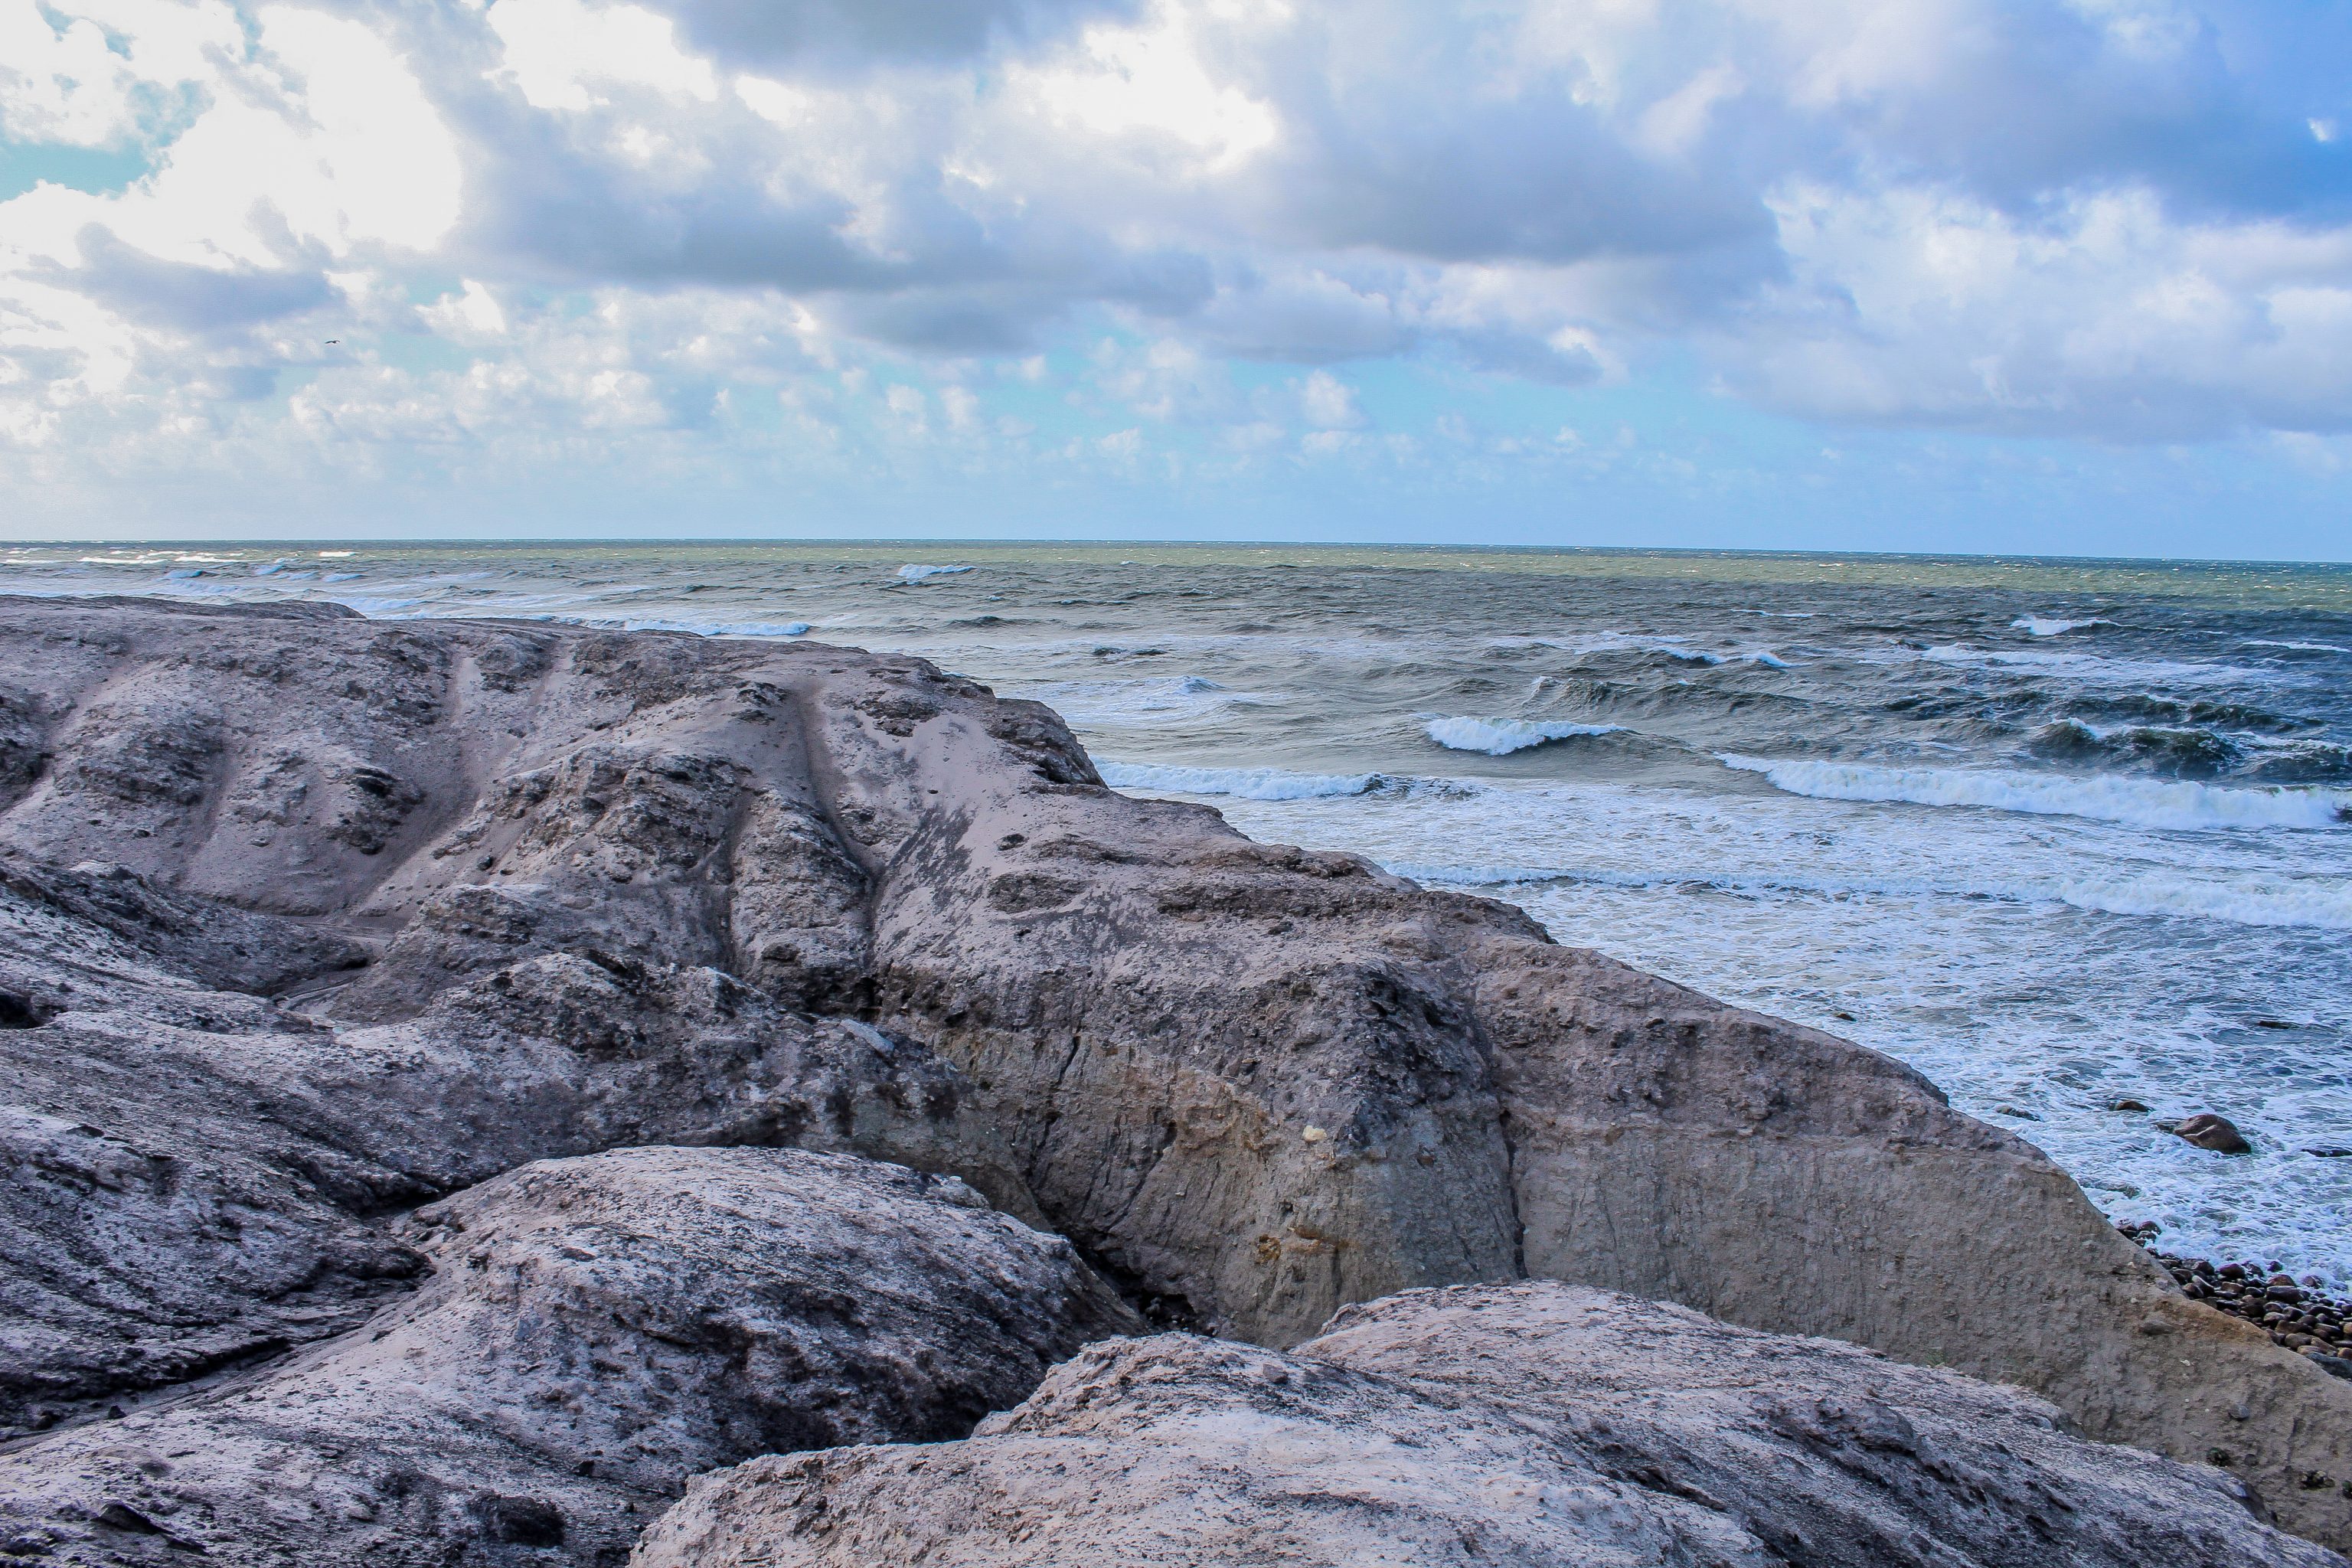
[[[2340,1568],[2241,1483],[2039,1399],[1557,1284],[1350,1307],[1289,1354],[1096,1345],[962,1443],[694,1481],[635,1568]]]

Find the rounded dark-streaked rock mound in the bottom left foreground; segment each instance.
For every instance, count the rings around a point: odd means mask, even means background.
[[[541,1161],[419,1211],[362,1328],[0,1453],[0,1556],[619,1563],[687,1476],[948,1439],[1134,1314],[957,1178],[797,1150]]]

